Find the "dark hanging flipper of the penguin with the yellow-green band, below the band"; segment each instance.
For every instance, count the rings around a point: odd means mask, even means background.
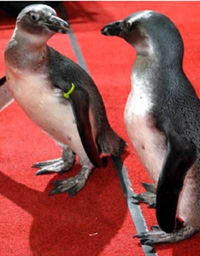
[[[95,139],[92,135],[92,127],[89,120],[89,95],[83,88],[75,88],[69,96],[77,129],[84,150],[89,160],[96,166],[102,165]]]

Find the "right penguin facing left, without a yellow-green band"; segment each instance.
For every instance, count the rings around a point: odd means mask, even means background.
[[[200,102],[182,69],[183,41],[162,13],[143,10],[105,25],[136,50],[124,122],[153,184],[134,198],[156,208],[158,226],[135,235],[173,243],[200,230]]]

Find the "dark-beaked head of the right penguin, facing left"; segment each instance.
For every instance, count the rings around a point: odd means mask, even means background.
[[[178,55],[182,58],[183,44],[178,29],[165,15],[143,10],[135,12],[123,20],[117,20],[101,29],[104,35],[122,37],[137,53]]]

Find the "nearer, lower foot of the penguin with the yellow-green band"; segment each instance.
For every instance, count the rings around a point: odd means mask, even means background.
[[[91,171],[92,168],[82,167],[76,176],[53,182],[55,187],[50,191],[49,195],[66,192],[72,197],[83,188]]]

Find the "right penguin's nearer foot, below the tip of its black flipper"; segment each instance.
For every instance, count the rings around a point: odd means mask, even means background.
[[[197,231],[190,225],[174,230],[172,233],[165,233],[159,226],[153,225],[152,231],[142,232],[133,236],[140,238],[141,244],[152,245],[154,243],[174,243],[187,239]]]

